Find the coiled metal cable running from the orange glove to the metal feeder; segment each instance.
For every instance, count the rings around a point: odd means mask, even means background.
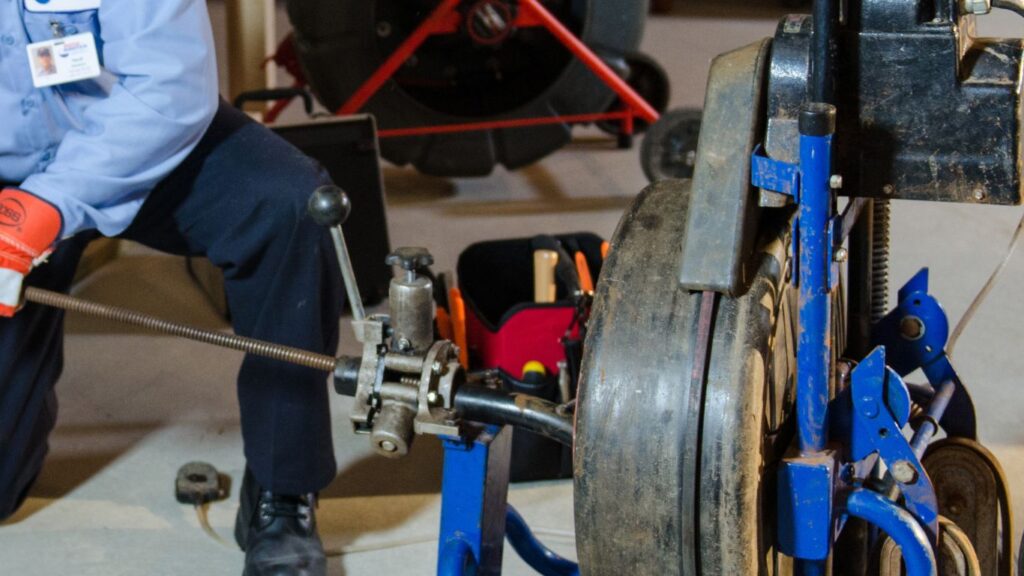
[[[223,348],[241,351],[254,356],[279,360],[281,362],[296,364],[298,366],[305,366],[306,368],[323,370],[324,372],[334,372],[335,366],[338,363],[337,359],[334,357],[324,354],[316,354],[309,351],[275,344],[273,342],[239,336],[237,334],[226,334],[215,330],[205,330],[195,326],[177,324],[175,322],[162,320],[127,308],[90,302],[88,300],[83,300],[67,294],[43,290],[41,288],[27,288],[25,290],[25,299],[37,304],[86,314],[122,324],[130,324],[132,326],[138,326],[154,332],[179,336],[181,338],[213,344]]]

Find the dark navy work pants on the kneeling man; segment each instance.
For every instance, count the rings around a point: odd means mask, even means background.
[[[329,232],[305,208],[325,183],[330,179],[315,162],[222,102],[195,152],[121,237],[208,257],[224,273],[237,333],[334,355],[340,273]],[[61,242],[27,284],[66,291],[94,236]],[[28,304],[0,319],[0,519],[14,512],[42,467],[56,420],[62,345],[59,311]],[[334,479],[323,372],[247,357],[238,394],[246,459],[260,485],[300,494]]]

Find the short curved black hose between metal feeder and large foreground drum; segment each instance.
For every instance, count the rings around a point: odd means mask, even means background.
[[[572,417],[559,415],[553,402],[483,386],[463,385],[455,407],[464,418],[486,424],[512,425],[572,446]]]

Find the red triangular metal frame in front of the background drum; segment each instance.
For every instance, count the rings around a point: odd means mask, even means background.
[[[441,0],[440,4],[423,24],[421,24],[409,38],[407,38],[395,51],[374,72],[366,82],[339,108],[335,114],[338,116],[350,115],[359,112],[364,106],[377,93],[378,90],[394,75],[394,73],[404,64],[416,50],[431,36],[440,34],[453,34],[459,31],[462,26],[463,16],[457,8],[464,0]],[[444,124],[439,126],[420,126],[411,128],[392,128],[381,130],[378,135],[382,138],[416,136],[424,134],[443,134],[454,132],[469,132],[476,130],[490,130],[499,128],[524,128],[529,126],[541,126],[545,124],[577,124],[586,122],[597,122],[599,120],[616,120],[622,123],[623,134],[633,134],[636,120],[641,119],[648,124],[653,124],[658,113],[640,94],[636,92],[625,80],[620,78],[600,57],[597,56],[586,44],[580,41],[572,32],[562,25],[540,0],[518,0],[519,12],[516,16],[515,26],[517,28],[543,27],[547,29],[562,45],[564,45],[577,58],[590,69],[604,84],[622,99],[624,107],[620,111],[601,112],[594,114],[580,114],[572,116],[551,116],[544,118],[516,118],[509,120],[490,120],[481,122],[468,122],[460,124]],[[304,84],[304,80],[296,78],[297,85]],[[290,100],[276,102],[265,115],[264,120],[272,123],[276,120],[281,112],[288,106]]]

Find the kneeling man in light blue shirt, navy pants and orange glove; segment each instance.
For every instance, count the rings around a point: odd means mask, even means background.
[[[98,76],[82,76],[93,64]],[[205,255],[224,271],[238,333],[335,353],[339,274],[304,210],[328,178],[219,100],[203,0],[0,0],[0,519],[38,476],[56,415],[62,315],[19,310],[23,280],[66,290],[97,235]],[[243,364],[236,536],[247,575],[324,572],[315,493],[335,476],[325,383]]]

